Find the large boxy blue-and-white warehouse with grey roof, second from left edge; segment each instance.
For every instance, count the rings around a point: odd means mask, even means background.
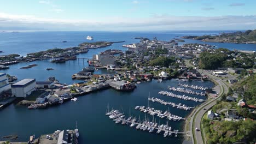
[[[11,92],[14,97],[26,98],[36,90],[36,79],[23,79],[11,85]]]

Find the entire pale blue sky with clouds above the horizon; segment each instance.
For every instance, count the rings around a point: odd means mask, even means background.
[[[256,29],[255,0],[0,0],[0,31]]]

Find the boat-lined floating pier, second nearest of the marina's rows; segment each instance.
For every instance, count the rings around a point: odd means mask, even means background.
[[[135,107],[135,110],[141,110],[141,112],[144,112],[144,113],[148,113],[149,115],[156,115],[160,118],[167,118],[169,120],[173,120],[173,121],[179,121],[179,120],[184,120],[185,118],[182,118],[182,117],[179,117],[179,116],[176,116],[176,115],[172,115],[172,113],[168,112],[168,111],[165,111],[164,113],[162,113],[161,110],[155,110],[154,108],[152,107],[145,107],[145,106],[136,106]]]

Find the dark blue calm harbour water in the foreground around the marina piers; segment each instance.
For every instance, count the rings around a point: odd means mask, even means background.
[[[207,82],[186,82],[200,86],[213,86]],[[183,103],[188,106],[195,106],[200,103],[184,101],[176,98],[159,95],[158,92],[166,90],[167,86],[177,86],[178,81],[170,80],[158,83],[156,81],[145,82],[138,85],[135,91],[130,93],[117,92],[107,89],[101,92],[91,93],[78,97],[78,101],[68,101],[62,105],[50,107],[45,110],[28,110],[24,106],[10,105],[0,112],[1,131],[0,136],[18,134],[20,141],[28,140],[28,136],[36,134],[51,133],[57,129],[72,129],[75,121],[78,122],[80,132],[79,142],[81,143],[182,143],[182,136],[164,138],[163,134],[148,133],[136,130],[121,124],[115,124],[105,116],[107,104],[113,109],[123,109],[126,115],[144,118],[144,113],[134,110],[137,105],[148,105],[148,89],[151,97],[161,98],[174,103]],[[204,98],[202,96],[195,96]],[[168,110],[168,106],[158,103],[149,103],[158,110]],[[184,111],[169,107],[174,115],[185,117],[190,111]],[[152,116],[149,116],[152,119]],[[156,118],[157,122],[166,123],[166,119]],[[174,129],[182,130],[183,122],[169,121]],[[155,131],[156,132],[156,131]]]

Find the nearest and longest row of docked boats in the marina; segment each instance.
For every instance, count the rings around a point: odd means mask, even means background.
[[[142,122],[140,121],[140,118],[137,120],[136,117],[129,117],[125,118],[124,113],[119,112],[118,110],[112,110],[109,112],[106,112],[106,115],[113,119],[113,121],[116,124],[123,124],[123,125],[129,125],[130,127],[135,127],[137,130],[143,130],[143,131],[149,131],[149,133],[153,133],[156,131],[157,134],[161,133],[161,131],[164,131],[164,137],[172,136],[172,134],[175,134],[175,137],[177,137],[178,130],[173,130],[171,127],[168,127],[168,124],[158,124],[156,122],[150,122],[148,119],[146,121]]]

